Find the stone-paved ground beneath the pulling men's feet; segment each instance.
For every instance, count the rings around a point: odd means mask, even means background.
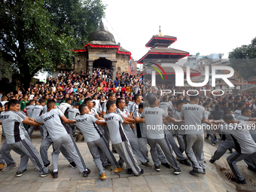
[[[38,134],[38,132],[35,132]],[[4,142],[5,139],[2,140]],[[41,145],[41,138],[32,139],[37,149]],[[19,191],[19,192],[35,192],[35,191],[207,191],[207,192],[232,192],[232,191],[256,191],[256,175],[247,169],[245,163],[239,163],[239,168],[248,184],[234,184],[224,177],[223,173],[230,172],[227,165],[225,154],[221,160],[215,164],[209,163],[209,159],[218,146],[212,146],[208,141],[205,142],[204,154],[206,157],[206,174],[190,175],[188,172],[191,167],[181,165],[181,175],[173,175],[172,169],[161,167],[160,172],[155,169],[146,169],[145,173],[139,177],[128,175],[125,171],[115,174],[106,172],[107,179],[101,181],[99,172],[93,162],[93,157],[84,142],[78,142],[78,148],[84,157],[86,165],[91,169],[88,178],[82,177],[78,169],[72,169],[69,162],[59,154],[59,178],[53,179],[51,175],[41,178],[35,167],[29,160],[28,171],[21,177],[16,177],[17,169],[10,172],[0,172],[0,191]],[[49,148],[49,158],[51,160]],[[17,163],[20,163],[19,155],[11,152],[12,157]],[[114,154],[118,158],[117,154]],[[151,163],[153,161],[151,160]],[[140,163],[139,163],[140,164]],[[52,167],[51,167],[52,168]]]

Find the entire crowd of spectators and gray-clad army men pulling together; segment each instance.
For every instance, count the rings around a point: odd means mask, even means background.
[[[172,87],[151,87],[150,80],[124,72],[112,79],[107,69],[95,69],[92,76],[84,71],[59,72],[46,83],[30,84],[27,90],[20,86],[17,93],[2,95],[0,120],[6,137],[0,149],[2,172],[18,167],[10,154],[13,150],[21,155],[17,176],[26,172],[30,159],[41,177],[57,178],[62,152],[69,166],[87,177],[90,169],[80,154],[83,149],[74,140],[78,135],[84,136],[101,179],[112,167],[122,172],[123,163],[126,172],[136,176],[144,173],[141,166],[159,172],[161,165],[178,175],[180,164],[191,166],[191,175],[205,174],[204,142],[217,145],[219,140],[210,163],[230,151],[227,162],[235,175],[231,181],[246,183],[236,166],[240,160],[256,172],[256,134],[249,129],[256,120],[256,96],[162,96],[160,89]],[[40,153],[32,144],[35,128],[43,137]],[[50,145],[53,170],[47,156]]]

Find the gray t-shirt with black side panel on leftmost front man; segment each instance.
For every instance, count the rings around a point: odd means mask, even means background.
[[[15,111],[3,111],[0,115],[2,128],[5,131],[6,142],[8,144],[20,142],[25,139],[23,132],[23,120],[26,119],[24,114]]]

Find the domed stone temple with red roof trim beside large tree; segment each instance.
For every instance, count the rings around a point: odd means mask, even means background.
[[[103,23],[100,24],[99,29],[89,35],[88,40],[84,49],[74,50],[77,54],[70,70],[81,72],[89,69],[90,75],[93,75],[93,69],[96,68],[113,69],[113,79],[116,72],[128,73],[128,63],[132,53],[116,43],[114,35],[105,29]],[[65,68],[59,66],[58,70],[62,69]]]

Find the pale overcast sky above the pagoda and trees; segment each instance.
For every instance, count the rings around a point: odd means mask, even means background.
[[[256,1],[102,0],[104,25],[117,42],[140,59],[145,44],[157,35],[175,36],[172,48],[190,54],[228,53],[256,36]]]

